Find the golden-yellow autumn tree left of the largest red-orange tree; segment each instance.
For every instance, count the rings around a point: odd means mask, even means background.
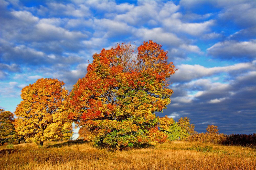
[[[18,135],[37,145],[70,138],[72,125],[64,108],[68,97],[64,84],[57,79],[42,78],[22,89],[22,101],[15,111]]]

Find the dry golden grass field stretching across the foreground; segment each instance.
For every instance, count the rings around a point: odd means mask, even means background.
[[[9,148],[9,149],[7,149]],[[45,142],[0,147],[0,169],[256,169],[256,149],[175,141],[114,151],[91,143]]]

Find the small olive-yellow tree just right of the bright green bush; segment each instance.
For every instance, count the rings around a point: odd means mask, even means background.
[[[188,117],[181,117],[178,126],[180,127],[180,139],[185,139],[194,133],[195,125],[190,124]]]

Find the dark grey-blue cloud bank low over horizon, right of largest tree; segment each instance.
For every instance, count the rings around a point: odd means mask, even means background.
[[[175,120],[188,116],[196,124],[198,132],[205,132],[208,124],[215,124],[220,132],[227,134],[238,130],[240,133],[255,133],[255,77],[254,68],[252,71],[244,70],[226,83],[198,79],[174,84],[171,87],[174,90],[172,103],[161,115],[167,114]],[[195,93],[191,94],[191,91]],[[253,130],[246,131],[248,129]]]

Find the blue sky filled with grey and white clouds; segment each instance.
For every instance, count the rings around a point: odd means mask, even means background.
[[[211,124],[224,134],[256,133],[254,0],[0,0],[0,11],[5,110],[14,112],[22,88],[39,78],[71,91],[101,49],[153,40],[178,68],[171,103],[157,116],[187,116],[199,133]]]

